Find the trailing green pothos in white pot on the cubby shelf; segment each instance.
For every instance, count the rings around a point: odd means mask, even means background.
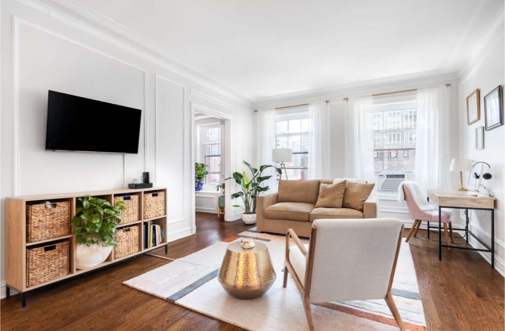
[[[109,201],[85,196],[78,199],[81,206],[76,208],[72,226],[77,241],[76,268],[87,269],[104,262],[117,246],[116,225],[121,222],[124,202]]]

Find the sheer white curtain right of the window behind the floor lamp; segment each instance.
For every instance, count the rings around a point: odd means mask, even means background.
[[[308,179],[329,179],[330,175],[330,106],[317,102],[309,105],[312,138],[309,144]]]

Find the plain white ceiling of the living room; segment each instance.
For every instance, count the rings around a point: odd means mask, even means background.
[[[251,100],[461,71],[503,7],[502,0],[78,2]]]

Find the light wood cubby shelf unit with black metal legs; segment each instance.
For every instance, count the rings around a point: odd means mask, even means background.
[[[165,251],[167,250],[167,215],[161,215],[159,217],[143,219],[143,207],[144,194],[154,193],[154,192],[165,192],[165,197],[167,197],[167,189],[166,187],[149,187],[142,189],[130,189],[125,188],[123,190],[109,190],[109,191],[94,191],[94,192],[79,192],[79,193],[67,193],[67,194],[49,194],[49,195],[37,195],[37,196],[24,196],[24,197],[10,197],[6,199],[6,288],[7,288],[7,296],[10,295],[10,289],[15,289],[16,291],[22,294],[22,307],[26,305],[26,293],[44,287],[46,285],[52,284],[54,282],[61,281],[63,279],[71,278],[73,276],[83,274],[89,272],[91,270],[99,269],[106,267],[108,265],[114,264],[116,262],[137,256],[139,254],[143,254],[148,251],[152,251],[155,249],[159,249],[165,246]],[[73,229],[71,229],[70,234],[63,235],[56,238],[46,239],[38,242],[27,243],[26,241],[26,205],[34,202],[43,202],[43,201],[70,201],[70,217],[74,217],[76,206],[79,204],[78,199],[84,197],[86,195],[90,195],[92,197],[99,197],[102,199],[106,199],[107,201],[113,203],[114,197],[119,195],[138,195],[139,196],[139,219],[134,222],[120,223],[117,225],[117,228],[138,225],[140,227],[140,239],[139,239],[139,251],[130,254],[127,256],[123,256],[120,258],[114,257],[114,250],[112,250],[111,254],[107,258],[106,261],[100,263],[94,267],[88,269],[76,269],[75,267],[75,252],[76,252],[76,240],[73,234]],[[166,206],[166,201],[165,201]],[[156,247],[149,247],[144,249],[144,227],[142,224],[147,221],[156,222],[156,224],[160,224],[162,229],[165,232],[165,238],[163,242]],[[44,244],[50,245],[53,242],[68,240],[70,243],[70,267],[69,273],[65,276],[61,276],[58,278],[54,278],[48,281],[44,281],[34,286],[27,286],[26,282],[26,249],[30,247],[34,247],[35,245]]]

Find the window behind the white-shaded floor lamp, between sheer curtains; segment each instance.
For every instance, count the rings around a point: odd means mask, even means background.
[[[289,180],[307,179],[311,129],[309,113],[276,116],[276,148],[293,150],[293,161],[286,162]]]

